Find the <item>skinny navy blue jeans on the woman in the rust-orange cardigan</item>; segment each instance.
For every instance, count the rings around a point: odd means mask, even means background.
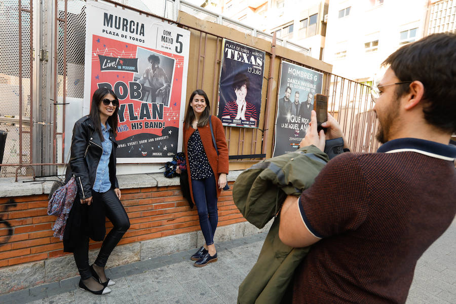
[[[214,244],[214,234],[218,222],[215,177],[192,179],[192,191],[200,218],[201,232],[206,245],[212,245]]]

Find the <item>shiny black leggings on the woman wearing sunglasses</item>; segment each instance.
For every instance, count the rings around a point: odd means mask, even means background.
[[[107,218],[114,225],[103,241],[100,252],[98,253],[95,264],[100,267],[105,267],[106,261],[114,247],[122,239],[123,235],[130,227],[130,220],[124,206],[117,198],[113,189],[109,189],[105,193],[92,191],[92,201],[104,202]],[[77,246],[73,252],[74,260],[79,270],[79,274],[83,280],[92,277],[89,269],[89,237],[81,236]]]

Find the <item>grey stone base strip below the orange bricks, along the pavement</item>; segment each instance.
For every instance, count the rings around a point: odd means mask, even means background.
[[[263,229],[257,229],[249,222],[220,226],[217,227],[214,241],[217,244],[268,232],[271,224],[272,220]],[[197,248],[202,246],[203,243],[204,238],[201,231],[199,231],[120,245],[112,251],[106,267],[113,268],[139,260],[166,256],[175,252]],[[95,260],[98,251],[99,249],[90,250],[90,263]],[[0,284],[0,294],[30,288],[43,283],[58,282],[78,275],[73,255],[70,254],[39,262],[4,267],[0,269],[0,282],[2,282]]]

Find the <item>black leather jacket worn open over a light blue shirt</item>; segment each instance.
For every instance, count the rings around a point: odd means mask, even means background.
[[[109,158],[109,181],[112,188],[119,188],[116,177],[117,142],[112,129],[109,130],[109,133],[109,138],[113,143]],[[101,139],[98,132],[95,132],[94,122],[89,116],[84,116],[74,124],[71,158],[66,169],[65,179],[66,182],[71,176],[75,177],[81,199],[92,196],[92,187],[102,153]]]

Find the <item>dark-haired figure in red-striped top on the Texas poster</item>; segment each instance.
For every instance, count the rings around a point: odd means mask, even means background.
[[[234,93],[236,94],[236,100],[225,103],[222,118],[254,122],[257,121],[258,117],[255,106],[246,100],[249,87],[250,81],[248,77],[244,73],[237,73],[234,77],[232,86]],[[242,126],[242,124],[233,125]]]

